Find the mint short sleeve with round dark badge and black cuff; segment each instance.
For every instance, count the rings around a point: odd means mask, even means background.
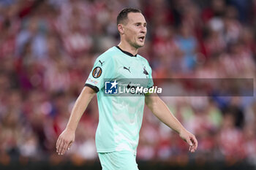
[[[113,58],[111,56],[99,56],[86,80],[88,86],[97,93],[105,86],[105,80],[111,79],[115,72]]]

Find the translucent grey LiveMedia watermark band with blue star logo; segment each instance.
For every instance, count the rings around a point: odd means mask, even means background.
[[[105,81],[105,96],[254,96],[252,78],[114,79]]]

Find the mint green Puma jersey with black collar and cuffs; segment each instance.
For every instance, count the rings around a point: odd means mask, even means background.
[[[153,86],[151,67],[140,55],[111,47],[100,55],[86,81],[97,92],[99,124],[95,136],[97,152],[129,150],[136,153],[143,119],[145,96],[115,96],[105,94],[106,80],[148,79]]]

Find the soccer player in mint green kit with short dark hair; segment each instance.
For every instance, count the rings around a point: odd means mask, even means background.
[[[159,120],[189,144],[190,152],[195,152],[197,139],[173,116],[159,96],[106,96],[105,78],[144,78],[148,79],[147,88],[153,86],[151,67],[145,58],[138,55],[138,49],[143,47],[147,32],[143,14],[138,9],[123,9],[117,17],[117,28],[121,41],[118,46],[111,47],[95,61],[86,85],[72,109],[67,127],[56,142],[57,152],[63,155],[71,147],[80,117],[96,93],[99,125],[95,142],[103,170],[138,169],[135,157],[145,103]],[[115,81],[112,85],[116,86],[116,83]]]

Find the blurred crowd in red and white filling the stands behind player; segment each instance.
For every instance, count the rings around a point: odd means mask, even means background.
[[[255,0],[1,0],[0,163],[97,160],[96,97],[71,150],[58,156],[55,144],[95,59],[118,45],[124,7],[146,17],[139,53],[154,78],[255,78]],[[255,97],[162,98],[198,149],[190,154],[146,108],[138,160],[256,162]]]

